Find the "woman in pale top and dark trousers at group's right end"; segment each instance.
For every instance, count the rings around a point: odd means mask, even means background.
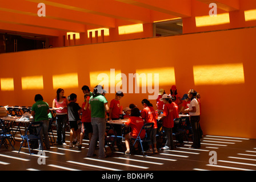
[[[183,110],[183,113],[189,112],[190,123],[193,131],[193,144],[190,148],[200,148],[200,131],[199,131],[199,121],[200,121],[200,106],[197,98],[197,92],[194,89],[190,89],[187,97],[191,99],[189,108]]]

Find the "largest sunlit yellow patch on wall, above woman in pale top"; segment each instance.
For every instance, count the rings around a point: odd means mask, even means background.
[[[244,84],[243,64],[198,65],[193,67],[195,85]]]

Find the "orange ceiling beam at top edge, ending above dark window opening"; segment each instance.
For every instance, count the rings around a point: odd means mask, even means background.
[[[191,16],[191,1],[188,0],[115,0],[181,18]]]

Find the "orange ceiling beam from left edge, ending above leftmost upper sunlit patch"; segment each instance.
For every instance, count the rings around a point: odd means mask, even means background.
[[[30,16],[25,14],[11,13],[0,9],[0,22],[21,24],[29,27],[48,28],[66,32],[85,32],[85,25],[61,20],[47,19],[45,17]]]

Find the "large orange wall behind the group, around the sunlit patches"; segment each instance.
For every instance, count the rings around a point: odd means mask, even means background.
[[[65,95],[76,93],[83,101],[82,86],[90,85],[90,72],[121,70],[129,75],[136,69],[174,67],[175,84],[183,95],[194,88],[201,93],[201,126],[204,134],[256,138],[253,98],[255,87],[256,28],[207,32],[52,48],[0,55],[1,78],[14,78],[14,91],[0,91],[0,105],[31,106],[41,93],[51,106],[56,89],[53,75],[78,74],[78,86],[65,88]],[[242,63],[242,84],[195,85],[193,66]],[[43,76],[43,89],[22,90],[21,77]],[[166,78],[168,79],[168,78]],[[215,79],[214,77],[212,79]],[[169,85],[160,85],[169,93]],[[93,89],[94,85],[90,85]],[[141,100],[148,94],[125,94],[121,104],[142,109]],[[107,94],[110,102],[114,94]],[[152,101],[155,105],[155,101]]]

